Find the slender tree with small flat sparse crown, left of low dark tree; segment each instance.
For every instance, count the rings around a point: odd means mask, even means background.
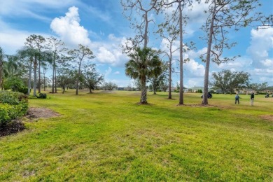
[[[77,76],[77,80],[76,80],[76,94],[78,94],[78,84],[79,84],[79,80],[80,80],[80,67],[83,64],[83,61],[85,61],[85,59],[93,59],[94,55],[92,50],[90,50],[90,48],[88,48],[88,46],[84,46],[79,44],[78,45],[78,49],[73,49],[73,50],[69,50],[69,55],[71,55],[71,57],[73,57],[73,59],[78,59],[77,63],[78,63],[78,76]]]

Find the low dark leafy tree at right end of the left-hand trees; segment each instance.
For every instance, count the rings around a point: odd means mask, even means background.
[[[90,93],[92,93],[92,90],[94,90],[99,84],[102,84],[104,76],[96,71],[95,64],[87,64],[84,65],[83,68],[83,79],[81,82],[89,89]],[[113,88],[113,85],[108,86],[109,89]]]

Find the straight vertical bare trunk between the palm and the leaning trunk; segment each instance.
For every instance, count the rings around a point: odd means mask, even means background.
[[[179,34],[180,34],[180,91],[179,91],[179,104],[184,104],[183,98],[183,27],[182,27],[182,7],[179,1]]]

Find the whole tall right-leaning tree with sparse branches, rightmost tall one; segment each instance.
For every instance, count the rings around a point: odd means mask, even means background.
[[[206,33],[204,37],[207,41],[206,58],[202,59],[206,62],[204,73],[204,97],[202,104],[208,104],[208,90],[209,90],[209,64],[211,61],[221,64],[234,60],[235,57],[222,58],[223,50],[230,49],[236,43],[229,43],[227,34],[228,29],[234,27],[239,30],[239,27],[246,27],[258,17],[251,14],[255,8],[260,6],[258,0],[208,0],[209,10],[206,25],[202,28]]]

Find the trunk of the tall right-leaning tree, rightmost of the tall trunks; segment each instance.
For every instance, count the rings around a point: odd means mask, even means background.
[[[208,102],[208,92],[209,92],[209,64],[211,60],[211,44],[212,44],[212,36],[214,34],[214,18],[216,13],[216,1],[214,0],[214,11],[211,16],[211,25],[209,27],[209,40],[208,40],[208,49],[207,49],[207,57],[206,57],[206,68],[204,73],[204,93],[202,104],[207,105]]]

